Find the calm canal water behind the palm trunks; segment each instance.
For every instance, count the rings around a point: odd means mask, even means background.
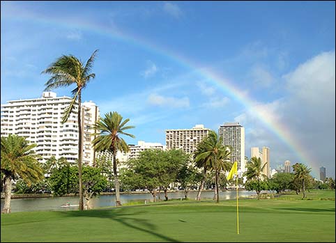
[[[212,199],[213,191],[202,191],[201,199]],[[238,191],[239,198],[247,198],[254,195],[255,191]],[[159,194],[157,194],[159,197]],[[189,191],[188,198],[195,199],[197,191]],[[183,191],[169,192],[169,199],[181,199],[184,198]],[[165,199],[165,194],[160,193],[160,199]],[[236,191],[220,191],[220,200],[233,200],[236,199]],[[100,195],[91,198],[89,201],[89,207],[112,207],[115,206],[114,195]],[[85,201],[85,200],[84,200]],[[153,202],[153,196],[150,193],[137,193],[137,194],[121,194],[121,204],[130,202],[148,203]],[[78,205],[78,196],[66,196],[66,197],[51,197],[51,198],[13,198],[10,201],[11,212],[26,212],[26,211],[65,211],[65,210],[77,210],[78,207],[61,207],[66,203],[70,205]],[[85,202],[84,202],[85,203]],[[3,199],[1,199],[1,210],[3,208]]]

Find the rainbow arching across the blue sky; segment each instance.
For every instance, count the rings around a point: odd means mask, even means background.
[[[201,77],[204,77],[209,84],[212,84],[217,87],[218,90],[229,94],[234,100],[243,104],[247,111],[253,111],[254,115],[259,118],[261,123],[264,123],[268,130],[273,132],[284,144],[289,147],[289,149],[295,153],[296,157],[299,159],[298,162],[302,162],[303,164],[307,164],[312,167],[312,173],[314,175],[316,175],[317,171],[319,171],[319,166],[316,163],[311,162],[312,157],[310,152],[305,150],[295,137],[291,136],[289,130],[284,126],[284,124],[280,123],[276,117],[272,116],[271,113],[266,112],[261,104],[248,97],[247,93],[244,93],[239,88],[236,88],[229,79],[221,77],[210,68],[201,67],[185,56],[182,56],[171,49],[160,47],[150,40],[146,40],[142,36],[135,36],[134,34],[126,33],[125,31],[120,31],[119,29],[107,26],[106,24],[89,22],[82,19],[80,21],[78,19],[72,19],[71,22],[66,22],[66,20],[61,18],[58,19],[56,17],[45,16],[40,13],[29,12],[29,10],[26,9],[16,11],[17,13],[8,16],[8,18],[17,21],[30,20],[31,22],[36,22],[36,24],[90,31],[91,33],[106,36],[107,38],[112,38],[117,41],[127,42],[135,47],[165,56],[165,58],[174,61],[174,63],[194,71],[195,73],[201,75]]]

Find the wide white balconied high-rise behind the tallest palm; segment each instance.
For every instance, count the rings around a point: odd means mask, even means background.
[[[17,134],[26,137],[41,155],[42,162],[55,156],[65,157],[68,162],[78,159],[78,123],[75,104],[68,121],[61,123],[64,110],[69,106],[70,97],[56,97],[54,92],[44,92],[36,99],[11,100],[1,104],[1,136]],[[93,164],[95,152],[91,146],[94,139],[91,125],[98,120],[99,109],[93,102],[82,103],[83,164]]]

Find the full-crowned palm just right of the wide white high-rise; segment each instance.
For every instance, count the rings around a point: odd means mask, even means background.
[[[100,120],[98,120],[96,124],[92,127],[92,129],[99,131],[98,133],[93,134],[94,136],[96,136],[96,138],[92,141],[95,150],[108,150],[109,152],[112,152],[114,185],[116,188],[116,206],[121,205],[119,194],[119,180],[116,171],[116,152],[127,152],[129,150],[127,143],[125,142],[125,140],[123,140],[123,138],[121,138],[121,135],[130,136],[133,139],[135,138],[134,135],[124,132],[125,130],[128,130],[130,128],[134,128],[134,126],[125,126],[129,120],[130,119],[128,118],[123,120],[123,117],[119,113],[114,111],[113,113],[105,113],[105,118],[100,118]]]

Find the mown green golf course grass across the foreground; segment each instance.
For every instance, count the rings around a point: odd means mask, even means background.
[[[14,212],[1,214],[1,242],[335,242],[335,191],[307,196],[240,200],[239,234],[235,200]]]

